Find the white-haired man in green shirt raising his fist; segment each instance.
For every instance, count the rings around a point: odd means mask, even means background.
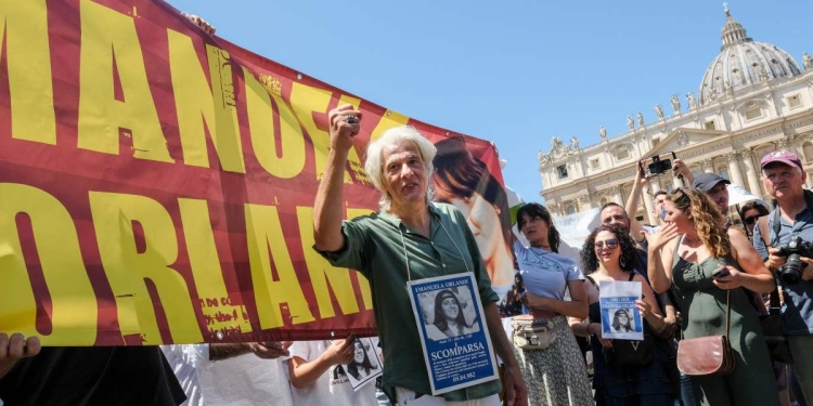
[[[486,324],[505,364],[508,405],[526,405],[527,390],[496,311],[477,243],[454,206],[431,202],[435,146],[412,127],[387,130],[367,146],[364,169],[380,191],[380,210],[343,221],[344,168],[362,113],[344,105],[330,112],[331,149],[314,204],[314,248],[333,265],[360,271],[370,280],[384,350],[384,390],[398,405],[500,405],[499,380],[431,397],[408,280],[474,273]]]

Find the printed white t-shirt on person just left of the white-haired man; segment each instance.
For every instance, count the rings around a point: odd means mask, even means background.
[[[378,339],[373,338],[371,341],[377,349]],[[330,345],[331,340],[297,341],[291,345],[288,352],[291,352],[292,357],[298,356],[306,362],[311,362],[322,355]],[[378,400],[375,396],[375,382],[369,382],[361,387],[358,392],[353,392],[350,379],[347,377],[346,367],[346,365],[334,365],[310,387],[302,389],[291,387],[295,404],[297,406],[378,406]],[[287,367],[285,371],[288,371]]]

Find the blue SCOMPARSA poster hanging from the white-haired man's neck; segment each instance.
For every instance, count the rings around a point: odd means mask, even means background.
[[[413,280],[410,290],[431,394],[499,378],[474,276]]]

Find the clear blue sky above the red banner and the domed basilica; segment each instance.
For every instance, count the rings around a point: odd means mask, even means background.
[[[720,52],[722,1],[169,0],[218,36],[422,121],[496,143],[506,184],[541,201],[537,152],[582,147],[697,93]],[[802,63],[813,1],[730,1],[756,41]]]

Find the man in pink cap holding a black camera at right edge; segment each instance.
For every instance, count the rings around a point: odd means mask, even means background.
[[[813,192],[803,188],[806,174],[799,157],[787,150],[765,155],[760,163],[765,189],[776,208],[760,219],[753,245],[765,266],[778,276],[787,309],[793,371],[808,402],[813,402]],[[763,237],[764,236],[764,237]]]

